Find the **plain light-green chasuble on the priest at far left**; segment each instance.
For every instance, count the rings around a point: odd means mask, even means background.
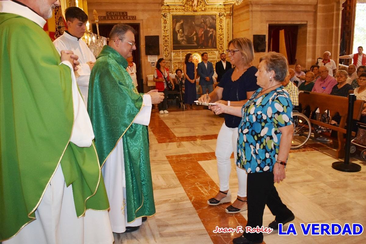
[[[0,41],[0,241],[35,219],[59,164],[77,217],[109,209],[94,144],[70,142],[70,68],[60,65],[45,31],[25,17],[0,13]]]

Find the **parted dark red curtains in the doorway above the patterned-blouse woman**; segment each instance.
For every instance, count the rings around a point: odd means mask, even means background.
[[[268,51],[280,51],[280,30],[284,30],[285,46],[289,64],[296,63],[298,26],[268,26]]]

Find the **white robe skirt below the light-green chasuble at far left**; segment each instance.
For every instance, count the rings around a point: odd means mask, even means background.
[[[72,186],[66,187],[61,165],[36,209],[36,220],[3,244],[111,244],[108,211],[87,210],[77,218]]]

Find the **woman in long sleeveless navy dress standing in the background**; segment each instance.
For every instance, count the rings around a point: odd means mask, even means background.
[[[184,82],[184,104],[186,104],[187,109],[193,109],[193,103],[196,100],[196,67],[192,62],[193,57],[191,53],[187,53],[184,59],[183,73],[186,77]],[[189,105],[189,106],[188,106]]]

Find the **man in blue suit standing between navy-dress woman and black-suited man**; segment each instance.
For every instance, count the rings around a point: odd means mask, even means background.
[[[197,66],[197,72],[199,74],[199,85],[202,87],[202,94],[211,93],[213,91],[213,65],[208,61],[208,54],[202,53],[202,62]]]

